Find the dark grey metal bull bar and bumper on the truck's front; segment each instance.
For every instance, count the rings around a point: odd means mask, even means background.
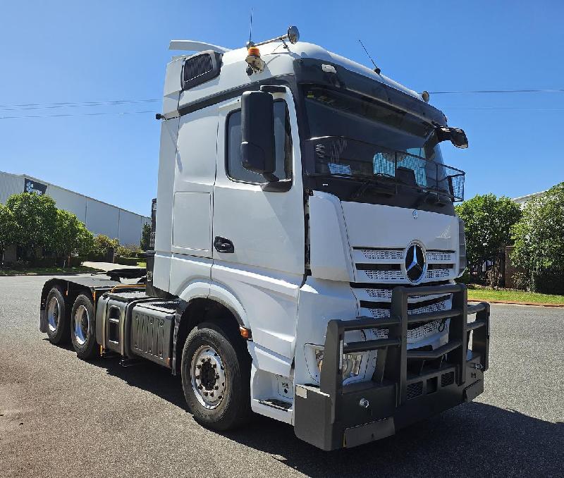
[[[453,294],[451,310],[407,314],[410,295],[440,293]],[[470,324],[469,314],[476,314]],[[448,343],[435,350],[407,350],[407,324],[437,319],[450,319]],[[388,337],[345,343],[346,331],[360,329],[388,329]],[[343,353],[367,350],[378,350],[372,380],[343,386]],[[329,321],[319,387],[296,386],[295,434],[323,450],[390,436],[482,393],[488,356],[489,304],[468,305],[466,286],[396,287],[389,318]],[[408,373],[408,362],[417,373]]]

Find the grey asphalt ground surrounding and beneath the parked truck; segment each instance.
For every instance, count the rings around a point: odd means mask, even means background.
[[[157,365],[87,363],[38,331],[46,277],[0,277],[0,474],[4,477],[559,476],[564,309],[492,306],[486,391],[473,403],[326,453],[257,417],[226,435],[186,411]]]

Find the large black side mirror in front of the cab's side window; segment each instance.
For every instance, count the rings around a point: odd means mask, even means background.
[[[274,98],[262,91],[244,92],[241,97],[241,161],[243,167],[277,180],[274,150]]]

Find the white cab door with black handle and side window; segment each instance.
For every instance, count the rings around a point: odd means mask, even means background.
[[[293,357],[305,225],[298,125],[288,88],[274,94],[274,123],[274,174],[289,188],[265,191],[263,176],[241,163],[240,98],[219,107],[212,281],[241,302],[255,344]]]

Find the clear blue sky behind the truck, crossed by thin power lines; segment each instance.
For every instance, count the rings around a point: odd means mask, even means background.
[[[301,39],[417,91],[564,88],[564,2],[1,1],[0,117],[160,111],[159,102],[21,109],[17,104],[159,99],[170,39],[242,47],[298,25]],[[564,92],[435,94],[470,148],[466,197],[510,197],[564,180]],[[29,106],[28,106],[29,107]],[[14,108],[20,108],[14,110]],[[140,214],[157,191],[154,114],[0,118],[0,170],[27,173]]]

